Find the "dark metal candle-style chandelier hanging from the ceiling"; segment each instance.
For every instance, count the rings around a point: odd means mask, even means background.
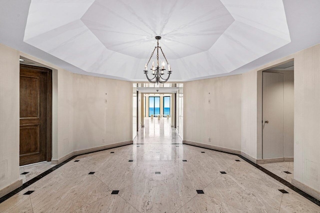
[[[153,52],[151,53],[151,56],[150,56],[150,58],[149,58],[149,60],[148,60],[148,62],[145,64],[145,66],[144,66],[144,73],[145,73],[145,76],[146,76],[146,78],[148,79],[148,81],[150,82],[150,83],[161,83],[161,84],[163,84],[163,83],[165,83],[168,79],[169,79],[169,77],[170,77],[170,74],[171,74],[171,67],[170,67],[170,65],[169,65],[169,63],[168,63],[168,61],[166,60],[166,58],[165,58],[165,55],[164,55],[164,53],[163,53],[163,51],[162,51],[162,49],[161,49],[161,47],[159,46],[159,40],[161,39],[161,36],[155,36],[155,39],[156,39],[156,44],[157,44],[157,46],[155,46],[154,47],[154,49],[153,49]],[[147,71],[147,68],[148,68],[148,64],[149,64],[149,62],[150,62],[150,60],[151,60],[151,58],[152,58],[152,56],[153,56],[153,53],[154,53],[154,51],[155,51],[155,49],[156,49],[156,67],[154,67],[154,61],[152,62],[152,67],[151,67],[151,69],[150,70],[152,70],[152,75],[153,75],[153,77],[151,76],[151,78],[149,78],[148,77],[148,71]],[[161,52],[162,52],[162,55],[163,55],[163,57],[164,57],[164,59],[165,59],[165,62],[166,62],[166,64],[168,65],[168,72],[167,72],[167,78],[163,78],[162,76],[164,75],[164,70],[165,70],[165,63],[164,63],[164,61],[162,62],[162,65],[161,65],[161,69],[160,69],[160,67],[159,67],[159,49],[161,50]]]

